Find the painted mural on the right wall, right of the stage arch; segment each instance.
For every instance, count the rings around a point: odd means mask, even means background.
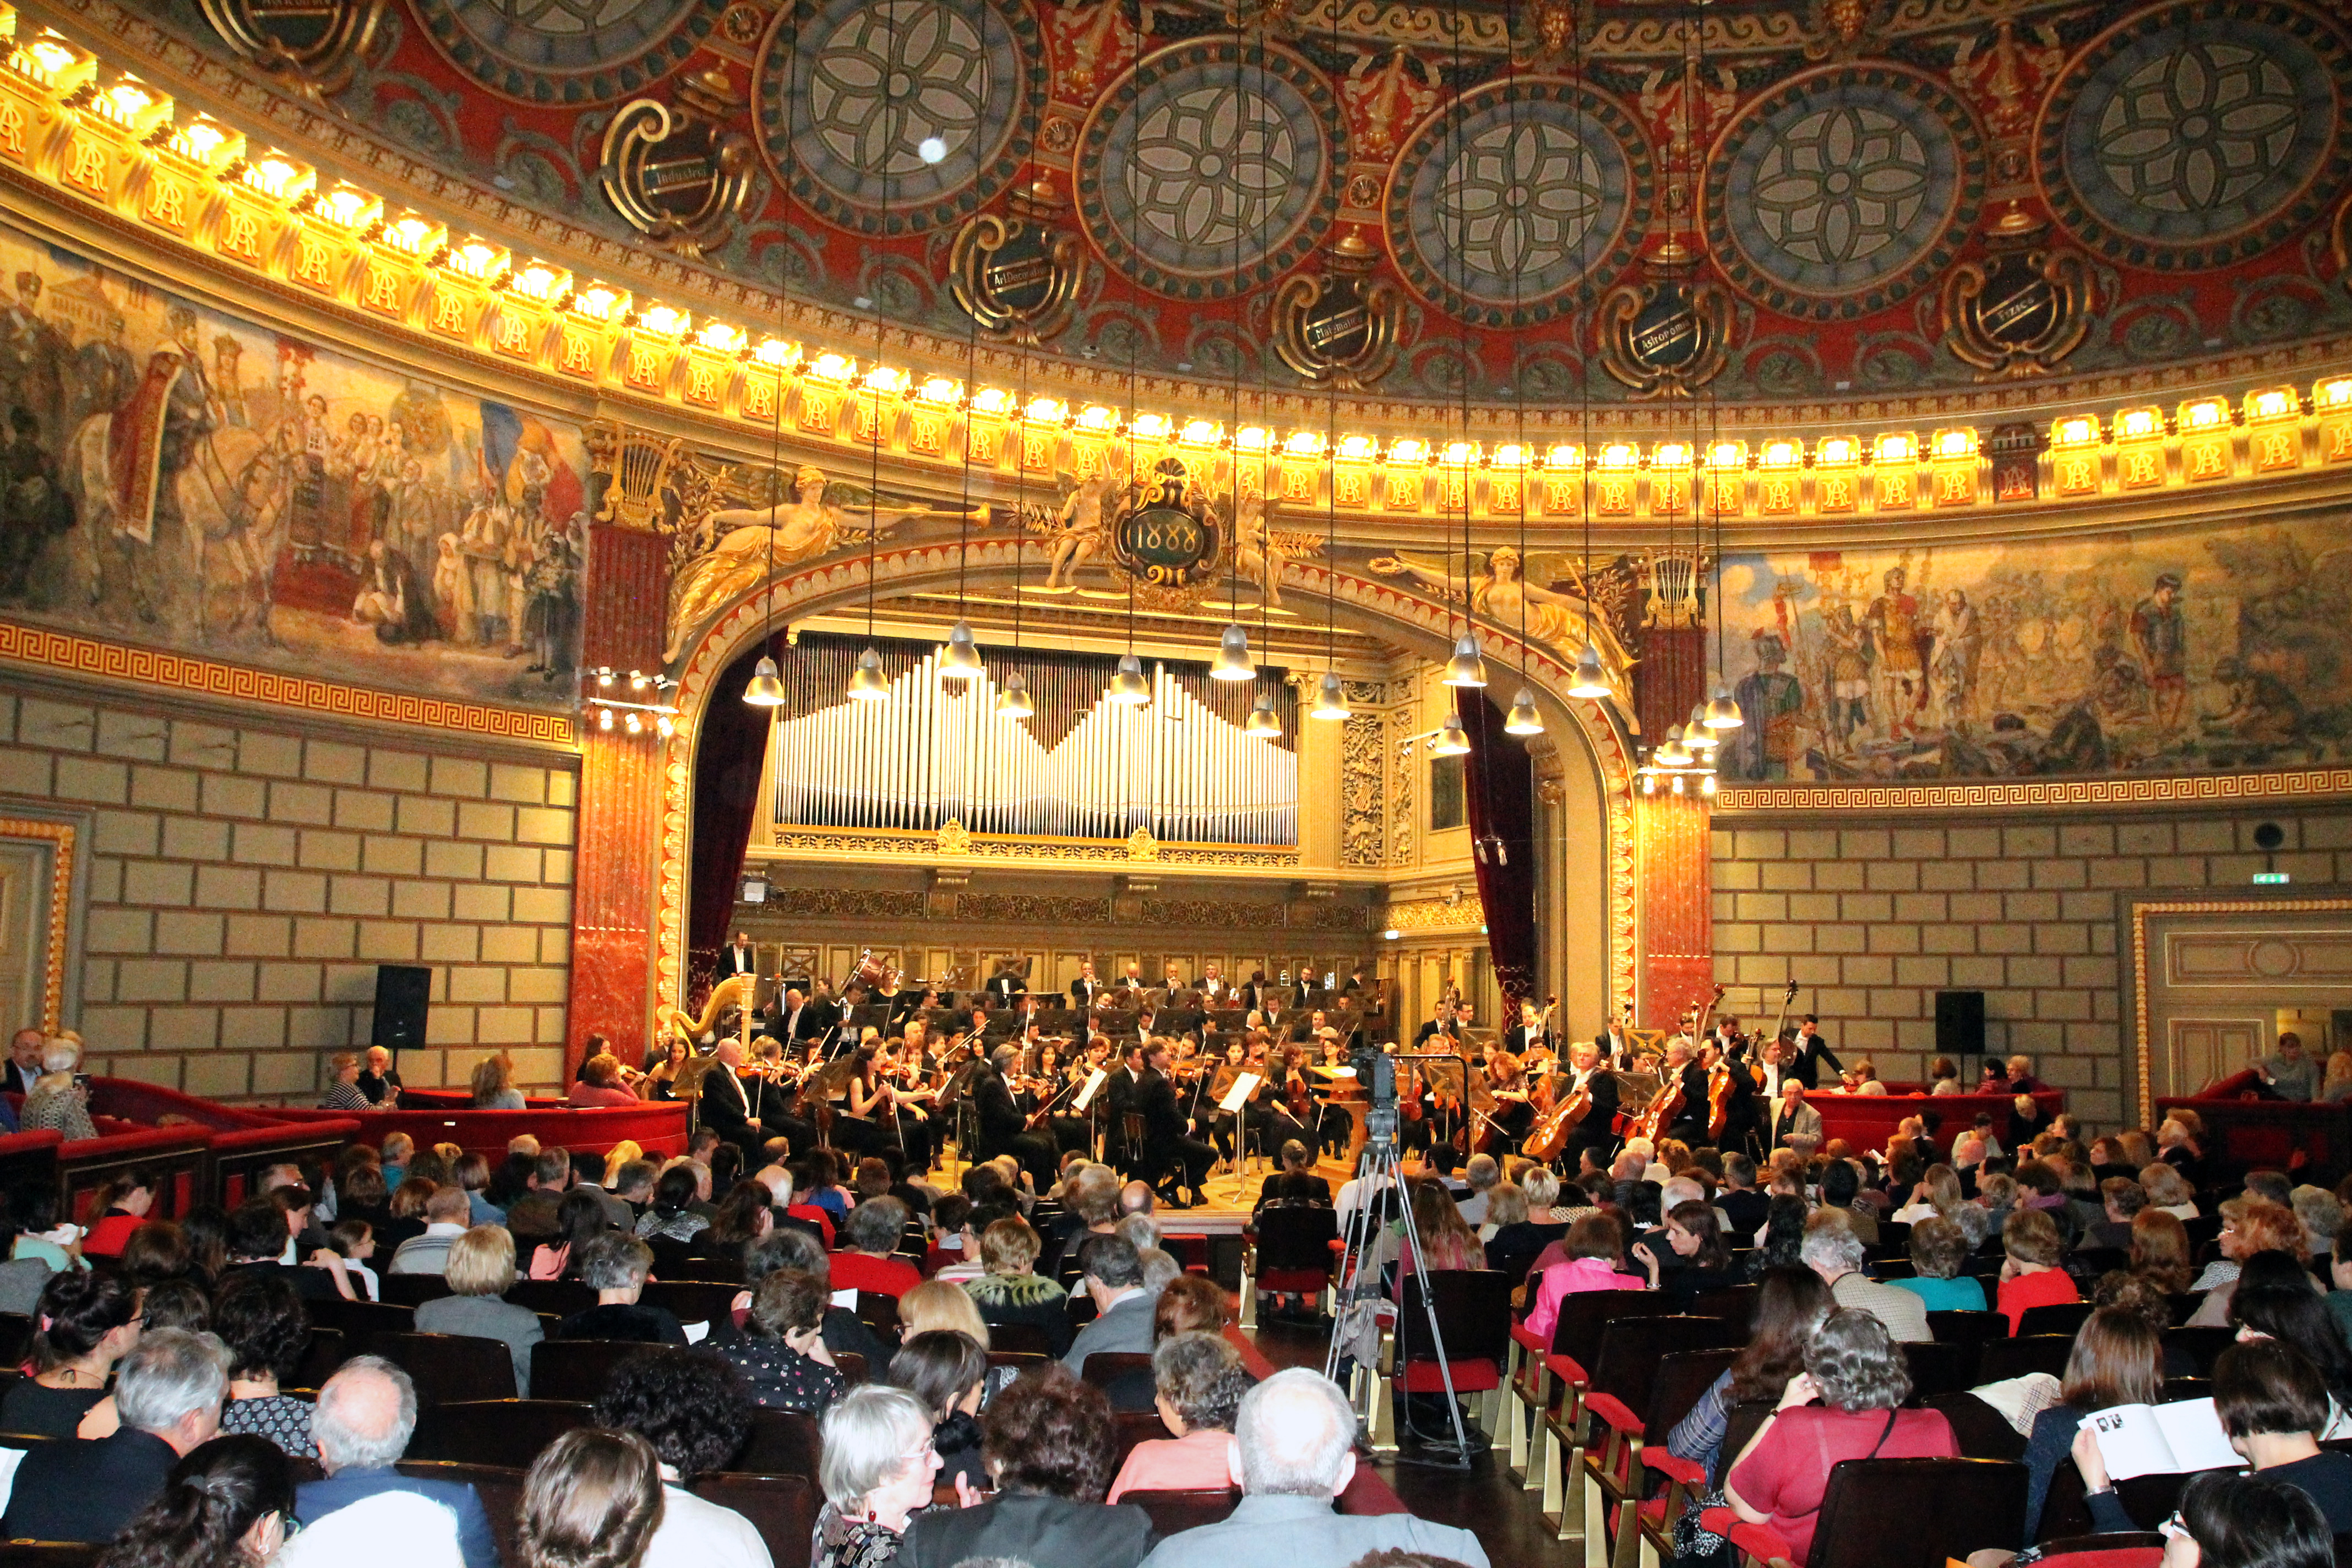
[[[2183,773],[2352,755],[2340,522],[1733,555],[1726,778]]]

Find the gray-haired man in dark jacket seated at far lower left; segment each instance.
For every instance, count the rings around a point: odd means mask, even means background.
[[[209,1333],[155,1328],[115,1366],[122,1425],[94,1441],[35,1443],[16,1467],[0,1535],[113,1540],[162,1493],[165,1476],[221,1429],[228,1352]]]

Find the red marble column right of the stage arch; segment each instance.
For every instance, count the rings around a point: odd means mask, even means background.
[[[1642,741],[1689,724],[1708,696],[1708,632],[1651,628],[1632,672]],[[1715,893],[1708,879],[1708,802],[1696,792],[1635,795],[1635,1023],[1672,1027],[1715,985]]]

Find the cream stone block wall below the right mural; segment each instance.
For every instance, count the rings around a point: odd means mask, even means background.
[[[2274,856],[2253,830],[2277,823]],[[2352,884],[2352,804],[2194,816],[2110,813],[1962,820],[1717,816],[1715,978],[1750,1027],[1780,987],[1792,1016],[1882,1077],[1924,1079],[1936,992],[1985,992],[1985,1048],[2030,1053],[2067,1103],[2117,1126],[2131,1088],[2122,1018],[2133,893],[2296,896]],[[2256,889],[2253,872],[2291,875]]]

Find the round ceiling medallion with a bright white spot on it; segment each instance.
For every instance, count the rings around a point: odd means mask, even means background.
[[[1004,0],[800,0],[767,38],[753,99],[795,200],[856,233],[924,233],[1018,179],[1047,101],[1044,40]]]

